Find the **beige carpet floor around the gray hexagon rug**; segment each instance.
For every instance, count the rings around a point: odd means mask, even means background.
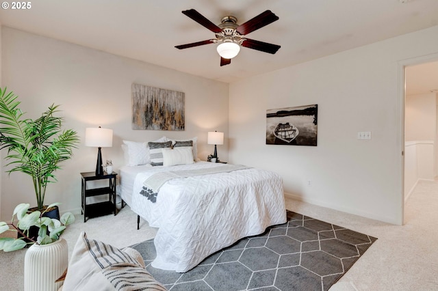
[[[335,291],[353,290],[438,290],[438,181],[420,181],[405,206],[405,225],[390,225],[313,206],[292,199],[288,210],[377,237],[350,270],[332,286]],[[89,219],[77,215],[64,238],[69,251],[83,230],[116,247],[127,247],[155,236],[156,230],[141,222],[136,230],[136,214],[129,207],[114,217]],[[0,290],[23,290],[25,250],[0,252]]]

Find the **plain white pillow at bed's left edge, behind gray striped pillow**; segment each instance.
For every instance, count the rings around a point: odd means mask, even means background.
[[[156,143],[169,141],[167,137],[157,139]],[[146,165],[151,163],[147,141],[123,141],[122,150],[125,153],[125,163],[128,166]]]

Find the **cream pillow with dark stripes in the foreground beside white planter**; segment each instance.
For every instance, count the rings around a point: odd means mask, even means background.
[[[63,291],[69,290],[166,290],[125,251],[81,232],[73,249]]]

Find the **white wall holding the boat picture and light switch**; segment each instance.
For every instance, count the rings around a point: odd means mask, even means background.
[[[400,63],[438,53],[437,34],[438,26],[232,83],[230,161],[278,172],[297,199],[402,223]],[[311,104],[317,147],[266,145],[266,109]]]

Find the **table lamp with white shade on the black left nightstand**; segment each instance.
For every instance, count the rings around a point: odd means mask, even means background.
[[[103,175],[101,148],[112,147],[112,129],[107,128],[86,128],[85,145],[97,147],[96,176]]]

